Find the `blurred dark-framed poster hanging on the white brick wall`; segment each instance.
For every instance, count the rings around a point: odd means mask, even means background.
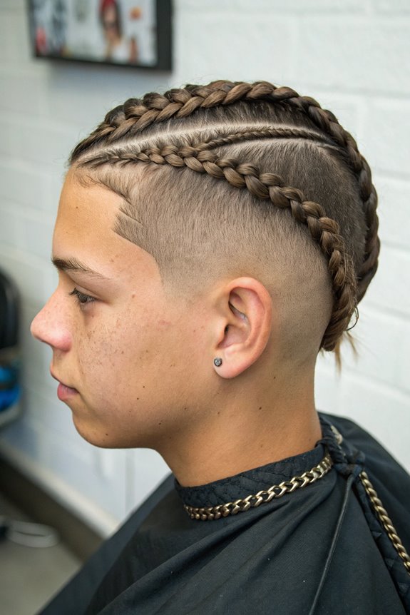
[[[29,0],[39,58],[171,68],[171,0]]]

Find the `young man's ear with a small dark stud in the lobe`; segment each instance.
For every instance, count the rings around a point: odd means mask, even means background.
[[[232,280],[218,297],[215,357],[222,360],[214,369],[233,378],[255,363],[264,352],[272,331],[272,299],[265,286],[254,278]]]

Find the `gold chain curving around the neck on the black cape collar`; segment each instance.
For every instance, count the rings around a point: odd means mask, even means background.
[[[304,472],[300,476],[294,476],[288,481],[285,480],[280,484],[272,484],[269,489],[263,489],[255,495],[248,495],[243,499],[237,499],[235,502],[227,502],[226,504],[218,504],[217,506],[195,508],[184,504],[184,509],[189,514],[191,519],[200,521],[213,521],[220,517],[228,517],[230,514],[245,512],[250,508],[257,508],[260,504],[267,504],[272,499],[278,499],[287,493],[293,493],[296,489],[303,489],[308,484],[312,484],[323,478],[330,469],[332,469],[332,457],[329,452],[324,455],[322,461],[308,472]]]

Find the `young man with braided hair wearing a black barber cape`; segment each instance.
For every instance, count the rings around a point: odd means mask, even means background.
[[[366,161],[290,88],[151,93],[78,144],[32,330],[78,432],[175,478],[44,614],[409,612],[410,478],[314,405],[378,253]]]

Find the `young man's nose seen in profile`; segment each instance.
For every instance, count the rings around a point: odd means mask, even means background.
[[[46,305],[31,322],[31,335],[54,350],[67,351],[71,347],[71,334],[66,310],[63,309],[61,291],[56,290]]]

